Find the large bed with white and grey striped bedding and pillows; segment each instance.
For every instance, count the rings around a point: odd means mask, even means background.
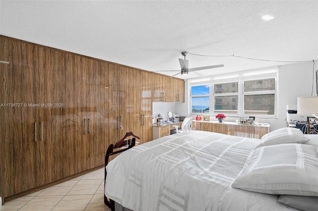
[[[317,210],[318,142],[296,130],[194,130],[135,146],[107,164],[105,197],[133,211]]]

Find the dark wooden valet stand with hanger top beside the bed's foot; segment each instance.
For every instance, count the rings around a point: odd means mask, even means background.
[[[128,137],[131,137],[131,136],[133,136],[134,138],[127,139]],[[104,192],[105,192],[106,175],[107,175],[106,165],[108,164],[109,156],[116,155],[118,153],[122,153],[122,152],[134,147],[136,144],[136,138],[140,139],[138,136],[135,136],[132,132],[127,132],[126,135],[120,141],[118,141],[115,145],[113,145],[113,144],[109,145],[109,147],[107,148],[106,155],[105,155]],[[122,148],[122,149],[120,149],[120,148]],[[114,151],[114,149],[119,149],[119,150]],[[114,201],[111,199],[108,199],[105,196],[105,193],[104,193],[104,204],[107,205],[107,207],[109,207],[112,211],[115,210]]]

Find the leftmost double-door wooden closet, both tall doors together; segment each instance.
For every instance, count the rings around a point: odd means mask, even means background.
[[[53,124],[61,114],[65,83],[64,53],[1,37],[0,138],[1,196],[6,197],[51,182],[58,177],[54,143],[59,131]],[[3,46],[2,46],[3,43]],[[2,49],[4,48],[4,49]],[[2,69],[3,67],[3,69]],[[13,106],[15,105],[15,106]],[[2,152],[2,151],[1,151]],[[14,176],[13,176],[14,175]],[[17,185],[18,184],[18,185]]]

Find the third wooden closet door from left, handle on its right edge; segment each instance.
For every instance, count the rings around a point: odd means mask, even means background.
[[[60,157],[63,175],[69,176],[87,169],[85,161],[86,86],[88,58],[72,53],[65,56],[66,103],[65,122]],[[86,125],[85,125],[86,122]],[[86,127],[85,127],[86,126]]]

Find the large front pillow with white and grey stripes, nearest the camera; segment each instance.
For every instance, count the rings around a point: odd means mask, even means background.
[[[232,187],[278,195],[318,196],[318,148],[280,144],[251,151]]]

